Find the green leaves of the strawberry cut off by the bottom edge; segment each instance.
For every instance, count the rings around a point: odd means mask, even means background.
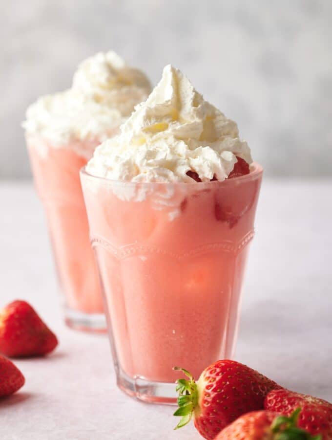
[[[297,408],[290,417],[278,416],[272,424],[271,430],[275,434],[274,440],[322,440],[322,436],[311,436],[309,432],[297,426],[301,408]]]

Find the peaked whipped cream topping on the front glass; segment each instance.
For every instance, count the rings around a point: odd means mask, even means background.
[[[94,152],[86,171],[134,182],[224,180],[237,159],[252,162],[235,122],[203,99],[180,70],[168,65],[160,83],[121,126],[121,133]]]

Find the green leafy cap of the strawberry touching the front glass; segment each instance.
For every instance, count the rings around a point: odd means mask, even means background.
[[[192,374],[180,367],[174,367],[173,370],[182,371],[182,373],[186,374],[186,376],[189,378],[189,380],[178,379],[176,381],[176,391],[179,393],[179,408],[175,411],[173,416],[181,417],[181,420],[174,428],[179,429],[187,425],[187,423],[189,423],[191,420],[192,414],[198,405],[198,390]]]

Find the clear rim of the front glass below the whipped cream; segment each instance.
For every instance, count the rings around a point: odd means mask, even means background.
[[[250,164],[250,173],[249,174],[245,174],[243,176],[238,176],[238,177],[232,177],[230,179],[224,179],[224,180],[210,180],[208,182],[133,182],[132,180],[115,180],[115,179],[108,179],[107,177],[101,177],[101,176],[94,176],[93,174],[90,174],[86,171],[86,165],[84,165],[81,170],[80,170],[80,175],[82,176],[87,176],[91,179],[96,179],[99,180],[101,182],[103,182],[104,184],[108,184],[108,185],[151,185],[151,186],[162,186],[162,185],[174,185],[174,186],[196,186],[196,185],[229,185],[229,184],[235,184],[235,183],[240,183],[240,182],[244,182],[247,180],[254,180],[259,178],[260,176],[262,176],[263,174],[263,167],[257,163],[257,162],[252,162]]]

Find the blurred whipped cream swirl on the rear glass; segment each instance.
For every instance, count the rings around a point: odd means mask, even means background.
[[[102,142],[150,90],[144,73],[127,66],[113,51],[100,52],[80,64],[70,89],[42,96],[32,104],[23,128],[54,147],[85,139]]]

